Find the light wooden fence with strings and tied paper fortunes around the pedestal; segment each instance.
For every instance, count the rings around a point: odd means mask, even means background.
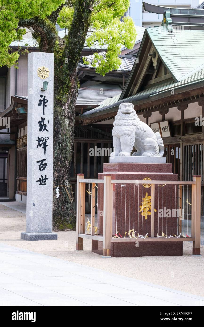
[[[90,210],[90,231],[85,233],[85,184],[91,184],[91,210]],[[103,183],[103,235],[95,234],[95,206],[96,206],[96,184]],[[151,236],[144,238],[115,237],[112,232],[113,213],[113,185],[134,184],[132,180],[111,180],[111,175],[104,176],[104,180],[84,179],[83,174],[77,174],[77,239],[76,250],[83,250],[83,238],[103,242],[103,256],[110,256],[111,242],[175,242],[193,241],[193,254],[200,255],[200,204],[201,204],[201,177],[193,176],[193,181],[150,181],[151,183]],[[137,181],[140,185],[147,181]],[[182,187],[191,185],[191,237],[182,237],[182,222],[177,221],[177,235],[171,237],[155,237],[155,185],[170,184],[178,187],[178,206],[182,207]],[[123,186],[123,185],[122,185]],[[162,186],[162,185],[161,185]],[[184,187],[183,187],[184,188]],[[183,222],[184,224],[184,222]]]

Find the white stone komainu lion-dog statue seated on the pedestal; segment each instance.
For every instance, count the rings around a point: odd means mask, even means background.
[[[164,144],[159,132],[143,123],[132,103],[121,103],[113,123],[113,147],[111,156],[130,156],[133,146],[135,156],[162,157]]]

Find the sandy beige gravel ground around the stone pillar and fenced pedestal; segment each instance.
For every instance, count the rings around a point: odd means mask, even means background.
[[[201,256],[192,256],[192,243],[184,242],[182,257],[138,257],[103,259],[91,252],[91,241],[84,239],[84,250],[76,251],[76,232],[57,232],[58,240],[25,241],[26,214],[0,204],[0,242],[85,266],[135,278],[183,292],[204,296],[204,246]]]

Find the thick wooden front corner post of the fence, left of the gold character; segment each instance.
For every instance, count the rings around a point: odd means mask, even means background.
[[[113,186],[111,175],[104,176],[103,184],[103,256],[110,256],[110,240],[112,238]]]

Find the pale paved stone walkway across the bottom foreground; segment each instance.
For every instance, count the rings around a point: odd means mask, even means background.
[[[0,305],[197,306],[204,298],[0,243]]]

